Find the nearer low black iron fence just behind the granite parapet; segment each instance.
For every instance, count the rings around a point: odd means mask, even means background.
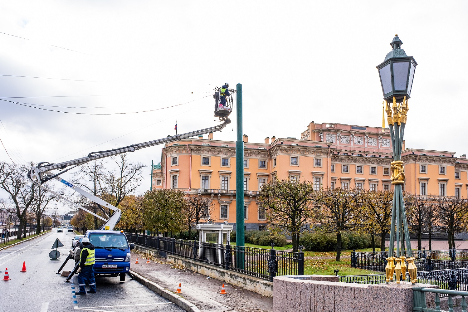
[[[396,276],[394,274],[394,281]],[[402,276],[400,276],[402,280]],[[409,273],[406,273],[409,281]],[[339,282],[380,284],[385,283],[385,274],[339,276]],[[468,268],[417,272],[417,283],[438,285],[440,289],[468,291]],[[447,297],[441,295],[440,297]]]

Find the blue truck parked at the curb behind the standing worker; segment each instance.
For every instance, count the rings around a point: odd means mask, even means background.
[[[130,271],[130,250],[135,249],[135,245],[129,244],[125,234],[119,231],[89,230],[85,237],[95,247],[94,275],[120,276],[120,280],[125,281]]]

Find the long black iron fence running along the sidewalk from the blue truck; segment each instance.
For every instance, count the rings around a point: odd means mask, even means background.
[[[132,243],[157,249],[161,256],[175,254],[264,280],[273,281],[273,277],[278,275],[304,275],[302,252],[279,251],[273,247],[263,249],[213,244],[133,233],[125,235]]]

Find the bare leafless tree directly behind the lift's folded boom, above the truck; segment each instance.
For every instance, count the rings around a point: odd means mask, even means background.
[[[102,196],[105,186],[103,160],[94,160],[80,167],[80,170],[73,175],[74,183],[83,189],[88,190],[94,196]],[[88,202],[89,203],[89,202]],[[97,214],[98,206],[92,203],[93,212]],[[97,217],[94,217],[94,227],[98,228]]]

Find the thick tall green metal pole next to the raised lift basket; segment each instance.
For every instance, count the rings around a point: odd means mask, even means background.
[[[236,86],[237,91],[237,140],[235,142],[235,212],[236,212],[236,245],[244,246],[244,141],[242,140],[242,85]],[[237,249],[237,248],[236,248]],[[243,248],[242,248],[243,249]],[[237,268],[244,268],[244,254],[237,254]]]

